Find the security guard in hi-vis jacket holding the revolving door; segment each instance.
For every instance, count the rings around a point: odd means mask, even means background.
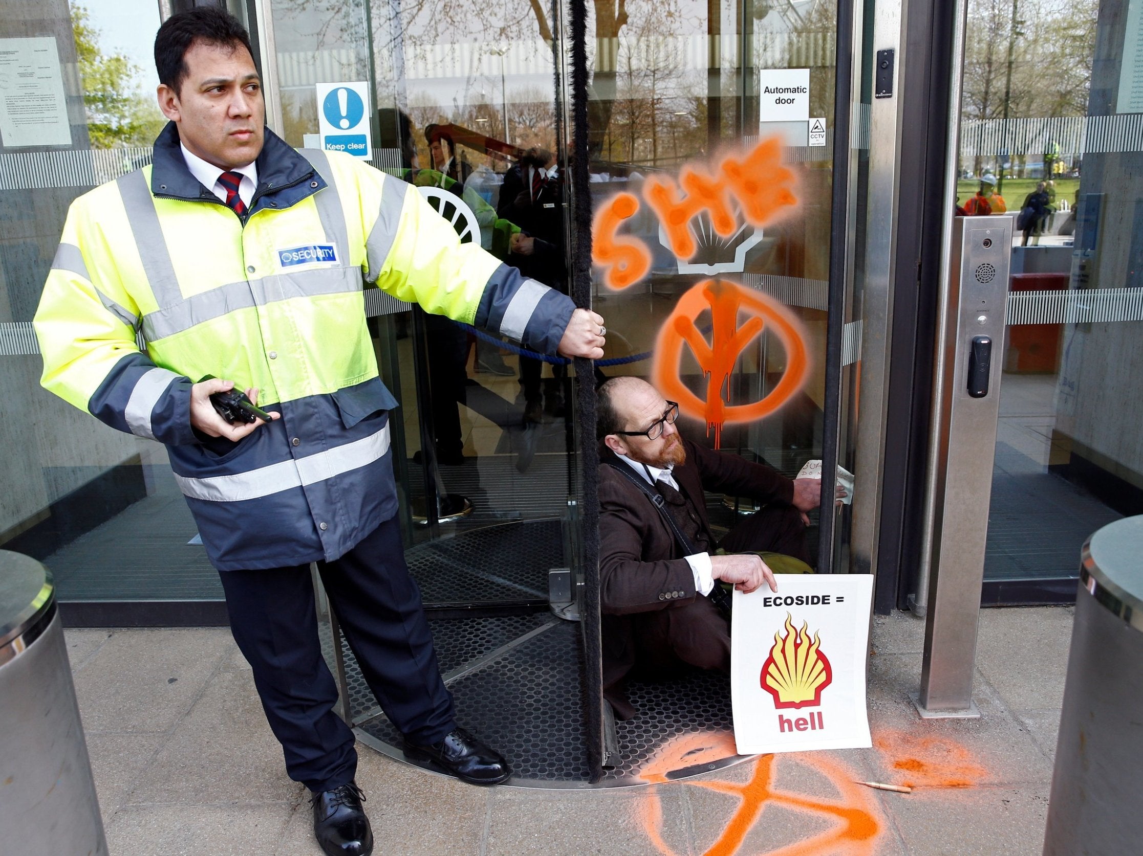
[[[397,401],[377,374],[362,274],[544,353],[602,356],[602,318],[462,245],[410,185],[266,130],[249,38],[225,11],[173,16],[155,63],[171,121],[152,167],[71,207],[35,315],[42,383],[167,445],[287,770],[313,792],[318,841],[368,854],[310,563],[406,754],[480,784],[510,772],[456,726],[402,558]],[[215,411],[210,395],[235,383],[270,421]]]

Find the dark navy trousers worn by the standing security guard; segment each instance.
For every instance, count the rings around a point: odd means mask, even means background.
[[[421,592],[397,518],[336,562],[318,563],[342,632],[390,721],[417,743],[455,727]],[[254,670],[289,777],[327,791],[357,772],[353,733],[334,712],[337,686],[321,656],[309,565],[222,571],[231,632]]]

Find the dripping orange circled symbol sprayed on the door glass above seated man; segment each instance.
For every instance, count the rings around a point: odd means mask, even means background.
[[[708,344],[696,320],[710,309],[713,323]],[[750,318],[738,326],[740,313]],[[761,401],[730,405],[730,372],[738,355],[762,332],[777,338],[785,349],[786,368],[782,379]],[[706,399],[692,393],[682,382],[682,345],[690,346],[706,378]],[[708,433],[714,431],[719,447],[726,422],[750,422],[773,413],[785,404],[809,375],[809,356],[798,320],[777,300],[759,291],[725,280],[705,280],[687,291],[660,329],[653,369],[655,386],[679,403],[688,417],[704,419]]]

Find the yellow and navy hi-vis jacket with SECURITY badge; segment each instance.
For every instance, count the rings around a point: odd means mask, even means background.
[[[303,156],[267,129],[257,168],[239,218],[191,175],[168,124],[153,167],[72,203],[34,320],[43,386],[168,446],[223,571],[335,559],[397,512],[397,401],[377,374],[362,276],[549,354],[574,308],[350,155]],[[207,374],[258,387],[281,419],[237,444],[197,434],[191,385]]]

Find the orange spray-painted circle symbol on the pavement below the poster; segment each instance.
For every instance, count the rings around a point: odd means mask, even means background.
[[[725,758],[728,734],[682,735],[660,750],[644,768],[641,777],[656,785],[669,786],[666,773],[684,766]],[[733,753],[733,748],[730,749]],[[745,784],[724,780],[684,780],[678,786],[703,788],[738,799],[738,805],[718,839],[703,856],[733,856],[743,846],[746,835],[764,815],[767,806],[778,806],[830,822],[830,826],[814,835],[774,850],[765,856],[873,856],[877,851],[881,823],[876,799],[861,785],[844,765],[822,753],[764,756],[754,762],[750,781]],[[838,796],[817,797],[778,788],[778,767],[789,772],[808,769],[828,781]],[[802,770],[798,770],[798,768]],[[799,776],[802,778],[804,776]],[[670,786],[674,786],[672,783]],[[644,807],[642,823],[648,838],[663,856],[676,851],[663,835],[663,807],[656,788],[650,789]]]

